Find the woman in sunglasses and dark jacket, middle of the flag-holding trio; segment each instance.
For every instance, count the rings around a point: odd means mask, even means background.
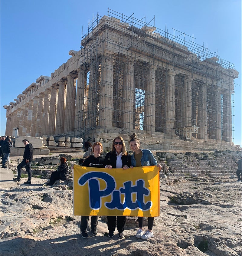
[[[129,169],[131,166],[131,157],[126,151],[126,147],[123,141],[123,138],[117,136],[113,140],[112,150],[105,156],[105,168],[108,169]],[[119,232],[119,238],[123,238],[124,234],[124,225],[126,222],[126,216],[107,216],[108,220],[108,236],[113,237],[113,233],[116,228],[116,219],[117,219],[117,229]]]

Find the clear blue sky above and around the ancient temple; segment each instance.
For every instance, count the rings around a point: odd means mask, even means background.
[[[3,0],[0,5],[0,135],[6,126],[2,106],[41,75],[50,76],[67,61],[70,50],[80,50],[88,21],[97,13],[107,15],[110,8],[126,16],[146,17],[146,22],[155,16],[155,27],[193,36],[196,44],[235,64],[240,74],[235,80],[234,143],[242,144],[241,0]]]

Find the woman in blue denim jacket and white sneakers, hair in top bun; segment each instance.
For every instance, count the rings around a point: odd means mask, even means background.
[[[139,148],[139,145],[140,145],[140,141],[136,137],[136,133],[133,133],[130,136],[130,141],[129,141],[129,146],[131,150],[134,152],[133,155],[131,155],[132,167],[157,165],[159,168],[159,171],[161,171],[161,165],[157,164],[157,161],[155,160],[152,152],[149,149]],[[154,217],[148,218],[148,230],[146,232],[144,232],[143,230],[143,220],[144,220],[143,217],[138,217],[139,230],[137,231],[136,237],[142,238],[142,239],[148,239],[148,238],[154,237],[152,232]]]

